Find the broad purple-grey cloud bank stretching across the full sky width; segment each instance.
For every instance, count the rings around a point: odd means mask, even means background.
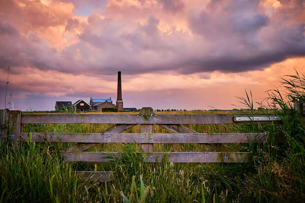
[[[159,4],[169,12],[185,10],[183,1]],[[81,24],[67,14],[50,20],[52,13],[48,12],[48,25],[65,25],[67,32],[81,30],[79,41],[62,49],[51,46],[36,32],[18,31],[0,18],[0,63],[85,75],[112,75],[117,70],[132,75],[262,69],[286,58],[305,56],[305,24],[300,20],[304,9],[300,5],[302,1],[293,5],[283,2],[282,8],[267,14],[257,0],[211,1],[205,9],[185,13],[192,35],[176,29],[162,33],[162,19],[154,15],[139,24],[91,13],[87,24]],[[45,9],[39,3],[35,6]],[[291,14],[294,11],[295,16]],[[44,26],[40,18],[29,19],[35,26]]]

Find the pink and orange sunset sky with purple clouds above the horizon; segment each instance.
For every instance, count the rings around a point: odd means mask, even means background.
[[[0,109],[8,66],[15,110],[116,101],[118,71],[124,107],[232,109],[305,73],[305,1],[0,0]]]

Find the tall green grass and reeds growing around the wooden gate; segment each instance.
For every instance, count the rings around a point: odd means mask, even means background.
[[[293,102],[305,101],[305,77],[288,76],[285,91],[269,91],[267,113],[282,124],[186,125],[199,133],[268,132],[261,144],[228,144],[252,152],[249,163],[205,164],[143,163],[133,153],[138,144],[98,144],[90,151],[125,152],[121,160],[97,164],[98,171],[114,171],[111,182],[92,182],[73,171],[93,171],[94,163],[64,162],[61,150],[71,143],[24,142],[17,149],[4,145],[0,151],[0,202],[304,202],[304,126]],[[284,92],[284,93],[282,93]],[[164,114],[257,113],[251,93],[241,98],[250,111],[179,111]],[[267,110],[261,110],[266,113]],[[131,113],[132,114],[132,113]],[[136,113],[135,113],[136,114]],[[162,114],[158,112],[158,114]],[[112,124],[26,124],[24,132],[98,133]],[[136,125],[125,132],[139,133]],[[154,125],[155,133],[169,133]],[[278,142],[279,135],[284,142]],[[199,144],[155,144],[155,151],[207,151]]]

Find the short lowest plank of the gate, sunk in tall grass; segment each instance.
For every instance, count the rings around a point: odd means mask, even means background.
[[[90,178],[93,181],[106,182],[113,179],[113,172],[94,172],[94,171],[75,171],[75,175],[80,175],[83,178]]]

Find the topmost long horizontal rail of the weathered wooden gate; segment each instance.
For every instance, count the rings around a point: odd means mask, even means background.
[[[25,114],[22,115],[21,123],[229,124],[236,122],[234,119],[236,116],[247,117],[234,114]],[[255,118],[259,117],[255,116]],[[254,119],[254,121],[273,121],[268,116],[262,117],[264,118]]]

